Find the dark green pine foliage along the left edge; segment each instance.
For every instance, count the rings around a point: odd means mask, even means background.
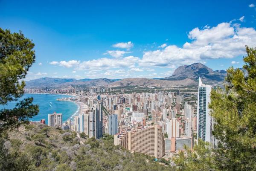
[[[23,95],[25,78],[29,67],[35,62],[34,43],[20,33],[0,28],[0,105],[17,100]],[[23,99],[14,109],[0,110],[0,132],[17,128],[38,113],[33,98]]]

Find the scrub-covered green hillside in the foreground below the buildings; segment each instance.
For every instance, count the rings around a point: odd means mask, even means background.
[[[172,171],[152,157],[113,145],[113,136],[79,139],[46,125],[26,125],[0,138],[1,171]]]

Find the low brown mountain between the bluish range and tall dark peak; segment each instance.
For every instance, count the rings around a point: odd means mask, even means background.
[[[169,80],[157,80],[149,78],[124,78],[119,81],[115,81],[108,86],[122,87],[122,86],[154,86],[154,87],[166,87],[166,86],[190,86],[197,85],[198,83],[190,78],[185,78],[178,81]]]

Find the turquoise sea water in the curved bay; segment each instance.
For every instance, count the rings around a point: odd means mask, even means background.
[[[62,113],[62,121],[65,122],[69,119],[74,113],[77,112],[78,106],[76,103],[71,101],[57,101],[62,97],[71,97],[67,95],[57,95],[57,94],[24,94],[22,98],[33,97],[33,103],[39,105],[38,115],[31,118],[31,121],[40,121],[45,119],[46,124],[48,123],[48,114],[49,113]],[[3,108],[13,108],[17,101],[12,101],[7,105],[0,105],[0,109]]]

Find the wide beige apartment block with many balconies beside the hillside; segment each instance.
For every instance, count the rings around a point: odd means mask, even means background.
[[[122,145],[131,152],[139,152],[162,158],[164,150],[164,134],[159,125],[133,129],[114,135],[114,144]]]

